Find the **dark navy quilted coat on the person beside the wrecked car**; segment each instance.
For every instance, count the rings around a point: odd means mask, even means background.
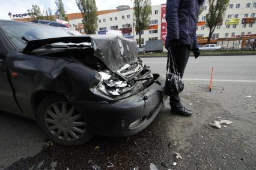
[[[166,22],[168,34],[165,47],[173,40],[180,40],[181,44],[190,48],[198,48],[197,20],[200,6],[205,0],[167,0]]]

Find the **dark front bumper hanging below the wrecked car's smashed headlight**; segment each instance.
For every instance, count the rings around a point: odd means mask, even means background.
[[[145,129],[159,113],[166,99],[165,81],[158,78],[150,87],[120,101],[73,102],[95,135],[129,136]]]

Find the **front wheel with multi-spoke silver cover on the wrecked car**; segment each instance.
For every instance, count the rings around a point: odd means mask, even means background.
[[[44,98],[35,119],[45,135],[57,144],[75,146],[93,138],[82,114],[61,95]]]

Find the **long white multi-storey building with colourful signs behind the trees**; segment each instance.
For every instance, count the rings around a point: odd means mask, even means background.
[[[206,14],[209,4],[206,1],[204,10],[199,16],[197,35],[206,39],[209,29],[206,26]],[[150,15],[150,27],[142,34],[142,44],[150,40],[164,40],[167,34],[165,21],[166,5],[153,5]],[[216,26],[212,39],[232,37],[256,36],[256,1],[255,0],[230,0],[224,20]],[[71,28],[82,23],[82,19],[70,20]],[[127,6],[119,7],[117,12],[98,16],[98,34],[104,34],[105,29],[120,30],[123,37],[138,40],[135,26],[133,26],[133,10]]]

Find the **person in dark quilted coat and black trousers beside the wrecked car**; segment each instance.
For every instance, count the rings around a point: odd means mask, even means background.
[[[200,50],[197,42],[197,20],[204,0],[167,0],[166,22],[167,37],[165,48],[175,57],[178,73],[183,77],[189,59],[190,50],[197,59]],[[192,111],[181,104],[180,96],[170,96],[171,112],[182,116],[191,116]]]

